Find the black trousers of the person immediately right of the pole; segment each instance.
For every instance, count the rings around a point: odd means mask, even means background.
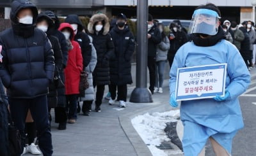
[[[148,56],[149,90],[154,94],[156,84],[156,57]]]

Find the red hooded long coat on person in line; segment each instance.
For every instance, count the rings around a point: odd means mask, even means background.
[[[74,31],[70,24],[63,23],[60,25],[59,31],[67,28],[72,30],[70,41],[72,43],[72,50],[68,52],[67,67],[64,70],[65,74],[65,94],[79,94],[80,74],[83,71],[83,57],[79,43],[74,41]]]

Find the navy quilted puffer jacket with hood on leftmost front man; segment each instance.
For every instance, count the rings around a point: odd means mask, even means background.
[[[53,80],[54,57],[44,32],[35,29],[34,25],[17,22],[17,13],[24,8],[36,10],[28,1],[12,3],[12,28],[0,34],[0,45],[3,46],[0,76],[8,96],[30,99],[48,93],[49,82]],[[33,13],[35,18],[37,11]],[[24,34],[24,31],[28,33]]]

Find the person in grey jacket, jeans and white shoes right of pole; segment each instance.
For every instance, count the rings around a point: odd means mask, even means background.
[[[167,53],[170,49],[170,41],[164,34],[164,25],[158,24],[158,29],[161,32],[162,41],[157,45],[156,51],[156,85],[154,92],[163,93],[164,69],[167,61]]]

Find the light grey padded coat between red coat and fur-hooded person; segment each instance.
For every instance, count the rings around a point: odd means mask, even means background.
[[[90,42],[92,43],[92,37],[89,36]],[[93,44],[92,46],[92,57],[89,65],[84,69],[89,75],[88,75],[88,82],[90,87],[84,91],[84,96],[79,98],[79,101],[93,101],[94,100],[94,89],[93,89],[93,78],[92,78],[92,73],[96,67],[97,64],[97,53],[95,50],[95,47]]]

